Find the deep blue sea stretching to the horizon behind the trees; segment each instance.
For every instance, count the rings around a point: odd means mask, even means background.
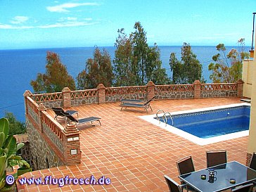
[[[169,55],[176,53],[181,57],[181,46],[159,46],[162,67],[166,69],[167,75],[171,77],[169,69]],[[226,51],[237,49],[236,46],[226,46]],[[75,48],[47,48],[47,49],[11,49],[0,50],[0,117],[6,112],[11,112],[15,117],[25,122],[25,106],[23,94],[26,90],[33,92],[30,85],[31,80],[37,78],[37,73],[45,72],[46,52],[58,53],[61,62],[66,65],[68,72],[76,78],[78,73],[84,70],[88,58],[93,58],[94,47]],[[106,49],[113,60],[115,47],[99,47]],[[250,47],[246,46],[245,51]],[[212,62],[212,56],[217,52],[215,46],[192,46],[193,53],[203,65],[203,77],[207,83],[212,82],[207,66]]]

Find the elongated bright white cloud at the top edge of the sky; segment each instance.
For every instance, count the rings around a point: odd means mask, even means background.
[[[75,8],[78,6],[98,6],[96,3],[66,3],[66,4],[60,4],[58,6],[47,6],[46,9],[51,12],[70,12],[68,11],[68,8]]]

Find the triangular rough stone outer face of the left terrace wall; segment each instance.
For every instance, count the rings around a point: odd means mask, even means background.
[[[34,169],[46,169],[64,165],[63,161],[54,153],[49,142],[47,142],[26,117],[27,134],[30,141],[30,153],[34,162]],[[49,166],[49,167],[48,167]]]

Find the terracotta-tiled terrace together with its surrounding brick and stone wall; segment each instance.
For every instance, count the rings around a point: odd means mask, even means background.
[[[120,98],[139,98],[146,92],[150,93],[148,97],[154,94],[157,98],[151,103],[153,112],[149,110],[147,114],[140,108],[120,111]],[[227,150],[228,161],[236,160],[245,165],[248,136],[198,146],[139,118],[155,114],[159,109],[174,112],[241,103],[241,93],[241,81],[234,84],[200,84],[196,81],[192,85],[164,86],[150,82],[145,87],[120,88],[100,85],[97,89],[63,89],[60,93],[41,95],[26,91],[30,143],[36,145],[44,139],[49,146],[44,142],[40,143],[40,148],[35,146],[37,151],[32,153],[37,157],[35,161],[40,170],[25,176],[86,178],[94,175],[97,179],[105,176],[111,179],[111,184],[63,187],[18,184],[18,188],[24,191],[168,191],[163,175],[179,181],[177,160],[192,155],[196,169],[203,169],[206,167],[205,151],[217,149]],[[78,110],[79,118],[100,116],[102,126],[82,124],[79,130],[72,125],[65,126],[65,120],[53,119],[53,111],[49,109],[53,106]],[[70,153],[74,149],[77,153]],[[51,168],[42,168],[44,166]]]

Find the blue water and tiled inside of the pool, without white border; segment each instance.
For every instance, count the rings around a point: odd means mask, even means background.
[[[167,124],[205,139],[248,130],[250,106],[172,115],[172,120],[169,118]]]

